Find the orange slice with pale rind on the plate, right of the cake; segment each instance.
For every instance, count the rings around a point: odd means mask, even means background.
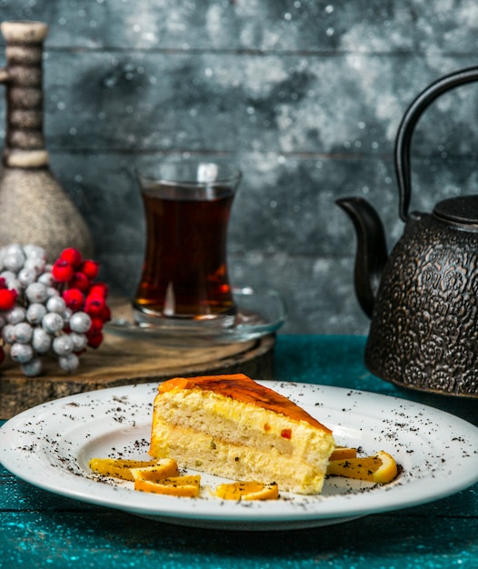
[[[391,454],[384,451],[373,454],[373,456],[333,460],[329,462],[327,467],[327,474],[365,480],[376,484],[392,482],[397,473],[398,468],[395,459]]]

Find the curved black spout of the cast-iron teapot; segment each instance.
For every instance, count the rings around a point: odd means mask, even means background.
[[[373,304],[387,261],[387,246],[383,224],[366,200],[362,197],[345,197],[336,200],[351,218],[357,235],[355,254],[355,294],[363,312],[372,317]]]

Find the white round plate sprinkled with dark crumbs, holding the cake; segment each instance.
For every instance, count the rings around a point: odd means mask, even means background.
[[[147,460],[157,384],[115,387],[38,405],[0,429],[5,468],[55,494],[173,524],[269,530],[335,524],[424,504],[478,481],[478,428],[451,414],[384,395],[314,384],[260,382],[300,404],[334,431],[336,444],[365,454],[387,451],[403,472],[391,484],[329,478],[318,496],[231,502],[203,493],[178,498],[135,492],[132,483],[101,480],[94,456]],[[214,486],[214,476],[203,484]]]

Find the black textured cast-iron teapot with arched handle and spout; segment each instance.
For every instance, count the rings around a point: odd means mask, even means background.
[[[478,397],[478,195],[445,199],[431,214],[408,209],[414,126],[439,95],[477,80],[478,67],[445,75],[403,116],[394,160],[405,227],[390,255],[373,207],[337,200],[354,222],[355,292],[372,318],[367,368],[404,387],[469,397]]]

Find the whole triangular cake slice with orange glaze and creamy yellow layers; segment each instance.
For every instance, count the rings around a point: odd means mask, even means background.
[[[149,453],[185,468],[319,494],[333,450],[330,429],[244,374],[176,377],[154,398]]]

